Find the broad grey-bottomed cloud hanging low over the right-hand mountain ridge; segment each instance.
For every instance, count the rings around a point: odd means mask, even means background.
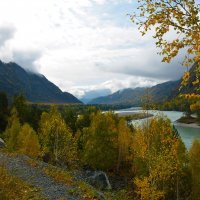
[[[183,60],[180,54],[170,64],[161,63],[162,58],[156,54],[155,48],[130,48],[123,51],[116,50],[111,53],[110,59],[104,59],[97,64],[100,70],[122,73],[133,76],[142,76],[158,80],[177,80],[184,72],[180,60]]]

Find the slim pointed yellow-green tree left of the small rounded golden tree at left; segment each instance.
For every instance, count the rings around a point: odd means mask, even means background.
[[[8,119],[8,126],[5,130],[4,137],[9,151],[18,149],[18,137],[21,129],[18,114],[15,108],[11,111],[11,116]]]

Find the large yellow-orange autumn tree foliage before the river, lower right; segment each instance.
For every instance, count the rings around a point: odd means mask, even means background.
[[[186,150],[169,120],[153,118],[146,126],[138,128],[133,149],[135,192],[140,199],[187,197],[184,190],[189,186],[182,187],[187,178]]]

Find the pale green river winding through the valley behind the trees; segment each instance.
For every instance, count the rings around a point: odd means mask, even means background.
[[[133,107],[129,109],[123,109],[123,110],[118,110],[115,111],[116,113],[138,113],[138,112],[143,112],[140,107]],[[192,142],[195,138],[200,139],[200,127],[187,127],[183,126],[181,124],[176,123],[176,120],[179,119],[181,116],[183,116],[182,112],[178,111],[155,111],[155,110],[149,110],[148,111],[150,114],[155,115],[163,115],[167,116],[171,122],[174,124],[176,129],[179,132],[179,135],[181,136],[185,146],[187,149],[189,149],[192,145]],[[134,120],[132,121],[133,124],[142,124],[146,121],[147,119],[139,119],[139,120]]]

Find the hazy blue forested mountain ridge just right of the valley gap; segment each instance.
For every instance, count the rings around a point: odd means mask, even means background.
[[[175,88],[179,81],[168,81],[158,84],[148,89],[154,102],[166,100]],[[117,91],[111,95],[93,99],[89,104],[116,104],[116,105],[141,105],[141,99],[145,95],[147,88],[124,89]]]

